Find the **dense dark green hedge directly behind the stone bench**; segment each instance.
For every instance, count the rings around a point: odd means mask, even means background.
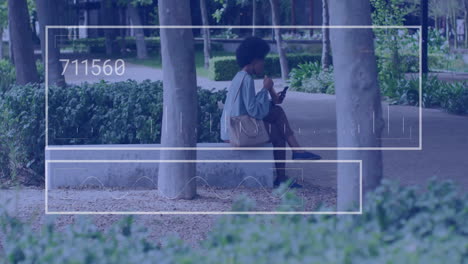
[[[35,179],[43,177],[44,94],[43,85],[13,86],[0,98],[0,167],[4,177],[11,177],[17,167],[31,169]],[[225,90],[198,89],[198,142],[220,141],[218,101],[224,101],[225,96]],[[159,143],[162,98],[161,81],[49,87],[49,144]],[[10,168],[9,173],[6,168]]]

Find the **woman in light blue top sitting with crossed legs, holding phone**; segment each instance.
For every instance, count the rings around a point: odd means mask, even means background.
[[[221,139],[229,142],[228,122],[230,116],[249,115],[264,121],[270,141],[275,148],[273,151],[275,160],[286,160],[286,142],[291,148],[300,148],[300,145],[289,126],[283,108],[278,105],[283,102],[284,94],[275,91],[273,80],[267,76],[263,79],[263,88],[255,94],[253,75],[263,75],[265,57],[269,52],[268,43],[258,37],[246,38],[237,48],[236,60],[241,70],[232,79],[228,90],[221,117]],[[238,87],[241,89],[238,90]],[[239,94],[237,94],[238,91]],[[237,100],[233,102],[233,96],[236,95]],[[270,95],[271,100],[268,95]],[[292,159],[318,160],[321,157],[311,152],[293,149]],[[276,162],[275,166],[277,178],[274,185],[277,187],[286,182],[288,177],[285,174],[286,164],[284,162]],[[301,188],[302,186],[292,181],[290,187]]]

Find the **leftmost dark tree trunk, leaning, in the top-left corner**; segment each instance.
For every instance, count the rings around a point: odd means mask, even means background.
[[[26,0],[8,0],[8,20],[16,83],[24,85],[39,82]]]

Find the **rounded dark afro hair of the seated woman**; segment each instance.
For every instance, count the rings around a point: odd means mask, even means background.
[[[268,43],[258,37],[245,38],[236,49],[236,61],[239,67],[243,68],[254,59],[265,59],[270,52]]]

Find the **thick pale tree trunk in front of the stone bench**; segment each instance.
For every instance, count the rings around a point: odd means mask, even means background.
[[[160,25],[190,25],[188,0],[159,0]],[[161,28],[164,111],[162,147],[196,147],[197,79],[192,30]],[[164,150],[161,160],[196,160],[194,150]],[[170,199],[196,195],[196,163],[159,164],[158,189]]]

